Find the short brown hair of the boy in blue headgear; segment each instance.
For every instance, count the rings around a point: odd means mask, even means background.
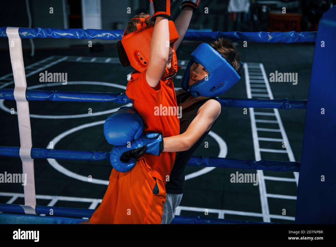
[[[210,43],[215,50],[217,50],[223,57],[228,59],[231,51],[236,51],[236,56],[232,61],[233,68],[239,73],[240,69],[240,54],[236,46],[232,44],[229,39],[219,38]]]

